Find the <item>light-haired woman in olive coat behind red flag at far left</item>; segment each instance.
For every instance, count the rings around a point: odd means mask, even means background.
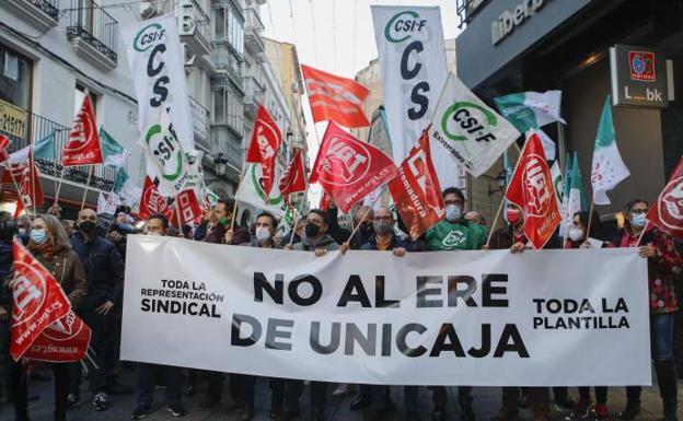
[[[86,293],[85,272],[78,255],[71,250],[71,243],[61,222],[49,214],[36,217],[31,227],[28,250],[55,277],[65,291],[71,306],[78,309]],[[14,281],[8,282],[11,291]],[[50,363],[55,374],[55,421],[67,419],[67,396],[69,395],[69,363]],[[10,389],[16,420],[28,420],[26,402],[26,376],[22,361],[12,363]]]

